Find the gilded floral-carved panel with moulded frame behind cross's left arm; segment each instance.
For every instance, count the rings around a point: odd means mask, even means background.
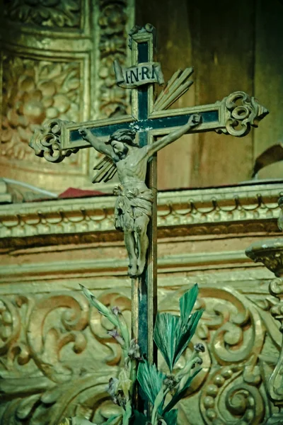
[[[59,167],[34,157],[28,142],[48,118],[84,121],[125,113],[113,90],[112,60],[127,62],[129,1],[7,1],[1,54],[1,176],[52,191],[91,187],[95,152]]]

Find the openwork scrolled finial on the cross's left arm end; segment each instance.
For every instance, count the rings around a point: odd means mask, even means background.
[[[61,162],[65,157],[76,154],[79,149],[62,149],[62,132],[67,121],[48,120],[41,128],[35,130],[29,146],[37,157],[44,157],[49,162]]]

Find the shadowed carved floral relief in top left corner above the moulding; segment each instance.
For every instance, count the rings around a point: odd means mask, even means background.
[[[43,27],[78,28],[81,0],[4,0],[10,21]]]

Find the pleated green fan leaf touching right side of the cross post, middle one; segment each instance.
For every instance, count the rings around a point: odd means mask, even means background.
[[[170,313],[158,313],[154,326],[154,341],[161,351],[168,368],[172,372],[178,338],[180,335],[181,320]]]

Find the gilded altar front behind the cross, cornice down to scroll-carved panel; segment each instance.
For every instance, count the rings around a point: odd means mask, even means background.
[[[280,193],[282,183],[159,193],[158,309],[177,310],[195,282],[205,309],[192,344],[208,349],[180,403],[182,424],[261,424],[274,409],[266,390],[281,346],[274,276],[245,249],[279,237]],[[113,205],[103,196],[0,206],[1,424],[55,425],[77,414],[99,424],[112,413],[105,385],[120,351],[79,283],[130,317]]]

